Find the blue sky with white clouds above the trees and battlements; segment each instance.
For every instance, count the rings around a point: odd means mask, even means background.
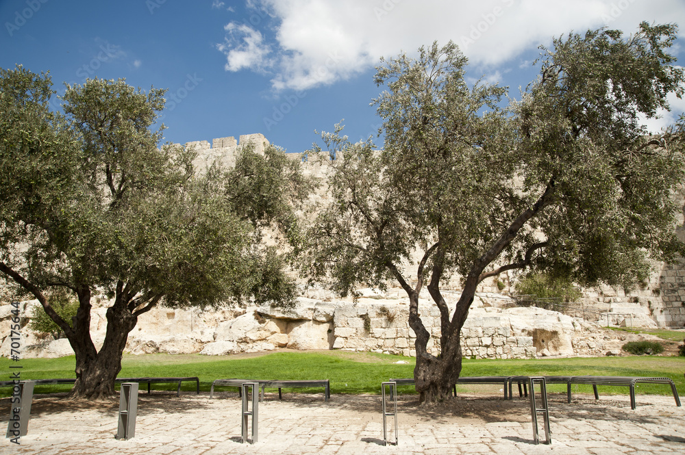
[[[49,70],[60,94],[87,77],[166,88],[165,140],[262,133],[288,152],[343,118],[351,140],[375,135],[379,57],[434,40],[512,96],[536,76],[538,45],[569,31],[679,23],[685,62],[685,0],[0,0],[0,18],[3,68]]]

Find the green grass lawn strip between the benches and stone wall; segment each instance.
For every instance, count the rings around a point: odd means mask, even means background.
[[[397,361],[408,363],[398,364]],[[61,359],[25,359],[12,362],[0,359],[0,380],[10,379],[10,365],[21,365],[23,379],[75,378],[74,356]],[[209,391],[212,381],[221,378],[245,379],[329,379],[332,393],[379,393],[380,384],[389,378],[411,378],[414,359],[384,354],[326,351],[275,352],[258,356],[201,356],[199,354],[125,355],[119,377],[198,376],[200,389]],[[13,369],[12,371],[17,371]],[[666,376],[674,380],[679,393],[685,393],[685,357],[629,356],[588,357],[569,359],[529,360],[469,360],[465,359],[462,376],[535,376],[535,375],[598,375],[598,376]],[[155,385],[164,389],[165,385]],[[591,386],[574,386],[574,393],[592,393]],[[462,386],[462,391],[483,387]],[[69,386],[44,385],[36,393],[68,391]],[[175,390],[175,386],[166,385]],[[183,389],[194,391],[195,384],[184,382]],[[1,388],[0,396],[10,395],[10,388]],[[231,389],[235,390],[235,389]],[[303,391],[302,389],[299,389]],[[314,393],[321,389],[312,389]],[[410,387],[403,392],[410,392]],[[549,391],[565,391],[565,386],[550,385]],[[600,394],[627,393],[626,387],[600,387]],[[669,395],[669,387],[639,385],[638,393]]]

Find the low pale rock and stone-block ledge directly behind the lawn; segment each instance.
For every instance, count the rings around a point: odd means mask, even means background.
[[[408,299],[398,291],[367,294],[351,300],[300,297],[295,307],[251,307],[212,311],[158,307],[142,315],[129,334],[129,354],[206,355],[262,352],[277,348],[297,350],[342,349],[415,356],[413,330],[408,324]],[[538,308],[487,307],[492,299],[479,296],[462,328],[462,352],[473,359],[526,359],[536,356],[604,355],[620,352],[621,344],[609,341],[597,326]],[[92,311],[91,334],[97,348],[105,337],[105,311],[110,302],[97,299]],[[450,302],[453,307],[453,302]],[[72,355],[66,339],[40,337],[27,327],[38,307],[22,302],[22,355],[58,357]],[[10,305],[0,306],[0,355],[10,353]],[[438,354],[440,317],[427,298],[420,300],[423,322],[431,333],[429,352]],[[7,330],[3,330],[3,328]],[[611,334],[613,336],[613,334]],[[4,339],[3,339],[4,338]]]

